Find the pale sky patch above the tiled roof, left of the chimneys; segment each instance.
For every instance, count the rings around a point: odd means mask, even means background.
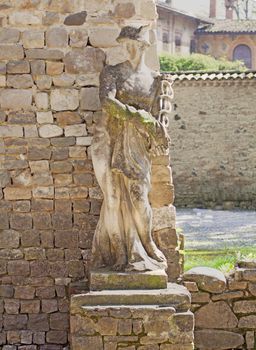
[[[209,16],[210,0],[173,0],[173,7],[200,16]]]

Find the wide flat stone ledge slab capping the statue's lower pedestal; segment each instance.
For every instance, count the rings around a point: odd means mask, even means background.
[[[104,290],[71,297],[72,313],[79,313],[81,308],[87,306],[110,305],[158,305],[159,307],[173,307],[183,312],[189,310],[191,296],[185,287],[168,283],[166,289]]]

